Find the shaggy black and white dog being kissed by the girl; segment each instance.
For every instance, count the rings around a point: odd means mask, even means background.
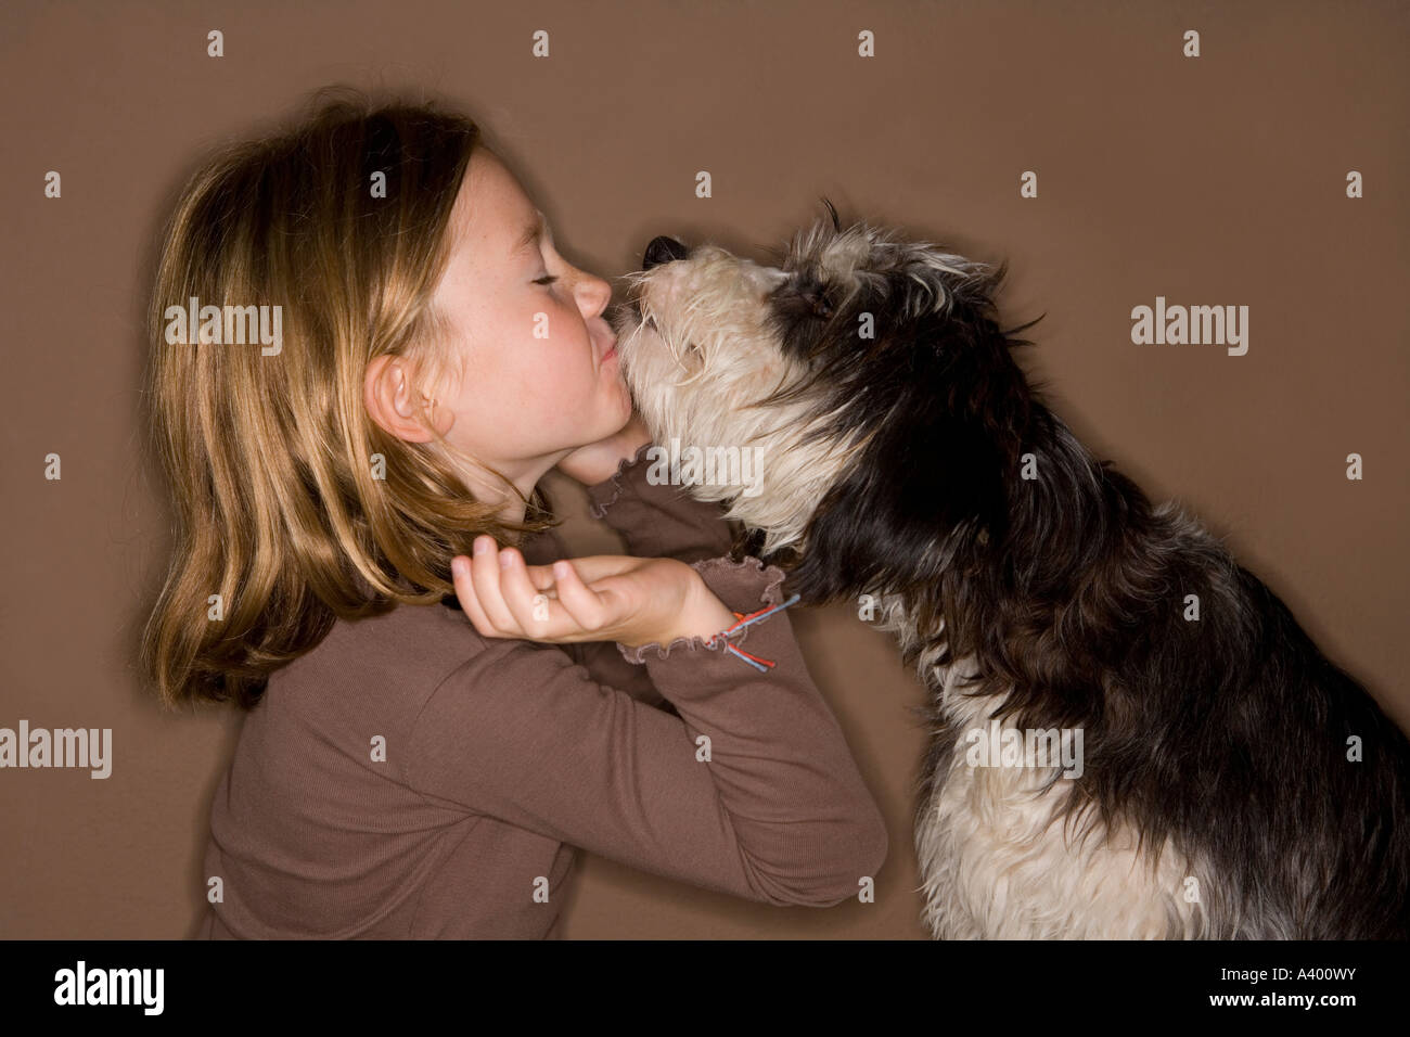
[[[780,267],[660,237],[615,310],[657,444],[804,604],[873,595],[929,690],[936,937],[1407,938],[1410,744],[1194,521],[1028,385],[997,269],[821,220]]]

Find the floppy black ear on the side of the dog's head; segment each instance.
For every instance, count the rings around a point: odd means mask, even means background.
[[[845,420],[869,440],[814,509],[790,593],[811,604],[894,593],[1003,539],[1029,392],[1010,353],[1024,340],[986,303],[953,299],[860,368]]]

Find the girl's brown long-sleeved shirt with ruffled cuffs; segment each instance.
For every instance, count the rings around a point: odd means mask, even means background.
[[[630,553],[689,562],[733,611],[780,604],[783,571],[722,557],[718,505],[647,468],[643,447],[588,490]],[[787,610],[636,649],[481,638],[444,605],[338,621],[244,720],[200,935],[556,938],[574,848],[771,904],[836,904],[877,873],[881,814]]]

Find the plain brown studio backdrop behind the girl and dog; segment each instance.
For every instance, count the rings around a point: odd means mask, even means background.
[[[0,727],[110,727],[114,770],[0,770],[0,934],[182,937],[203,907],[238,718],[164,714],[134,669],[168,543],[137,420],[141,308],[199,154],[334,82],[479,119],[563,253],[606,277],[660,233],[767,258],[819,195],[1008,257],[1008,323],[1048,312],[1026,363],[1056,409],[1225,536],[1410,724],[1407,28],[1404,3],[7,3]],[[1018,195],[1026,169],[1038,199]],[[1131,308],[1156,295],[1248,305],[1248,356],[1134,346]],[[616,550],[551,478],[572,543]],[[878,902],[778,910],[588,859],[570,937],[924,935],[918,684],[846,608],[794,622],[891,821]]]

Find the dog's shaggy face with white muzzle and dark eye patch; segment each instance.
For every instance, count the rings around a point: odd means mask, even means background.
[[[894,330],[943,309],[946,279],[983,269],[866,224],[818,222],[781,268],[705,244],[627,275],[634,305],[613,316],[618,357],[654,443],[757,451],[757,494],[705,484],[692,495],[726,501],[729,518],[763,530],[764,554],[802,547],[816,504],[871,433],[860,422],[839,435],[830,419],[850,402],[809,375],[839,351],[867,353],[852,329],[862,303]]]

